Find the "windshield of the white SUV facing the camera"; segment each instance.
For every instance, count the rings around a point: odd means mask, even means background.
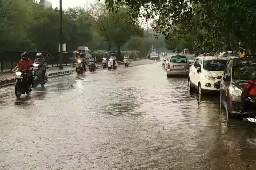
[[[228,60],[204,60],[203,68],[208,71],[224,71]]]

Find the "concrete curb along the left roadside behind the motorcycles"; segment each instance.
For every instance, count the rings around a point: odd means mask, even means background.
[[[141,60],[143,58],[135,58],[135,59],[130,59],[130,61],[137,61],[137,60]],[[123,65],[123,61],[118,61],[117,62],[119,65]],[[97,69],[102,68],[102,65],[97,65]],[[86,70],[89,70],[89,67],[86,67]],[[62,77],[62,76],[66,76],[69,74],[73,74],[74,72],[76,72],[76,69],[69,69],[69,70],[60,70],[60,71],[56,71],[56,72],[51,72],[49,73],[49,79],[54,78],[54,77]],[[12,84],[15,84],[15,78],[4,78],[0,80],[0,87],[5,87],[5,86],[9,86]]]

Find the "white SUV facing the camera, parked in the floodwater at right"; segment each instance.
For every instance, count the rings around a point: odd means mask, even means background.
[[[198,56],[190,67],[188,90],[198,90],[198,97],[204,92],[220,90],[220,81],[229,57]]]

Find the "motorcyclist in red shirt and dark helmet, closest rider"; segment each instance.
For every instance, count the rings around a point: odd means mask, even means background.
[[[28,58],[28,53],[23,52],[21,54],[21,60],[19,61],[18,65],[13,69],[15,71],[17,68],[21,68],[22,72],[27,73],[27,79],[30,84],[30,87],[33,87],[34,78],[33,78],[33,62],[31,59]]]

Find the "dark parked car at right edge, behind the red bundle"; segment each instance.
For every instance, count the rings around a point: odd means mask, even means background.
[[[248,80],[256,80],[256,58],[234,58],[227,63],[220,83],[220,106],[225,107],[228,116],[256,113],[256,96],[246,98],[242,94]],[[255,85],[256,86],[256,85]],[[255,93],[256,91],[254,91]]]

